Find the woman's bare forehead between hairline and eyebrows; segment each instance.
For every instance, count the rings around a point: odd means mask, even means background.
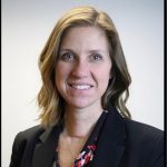
[[[105,31],[98,27],[72,27],[62,37],[60,48],[66,47],[108,49],[108,39]]]

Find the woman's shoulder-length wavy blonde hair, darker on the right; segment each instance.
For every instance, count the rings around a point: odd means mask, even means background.
[[[109,80],[108,88],[102,96],[101,105],[104,109],[114,106],[124,117],[130,118],[130,112],[125,104],[129,97],[128,87],[131,79],[116,27],[106,12],[97,11],[92,7],[78,7],[71,9],[60,18],[39,58],[39,69],[42,79],[42,87],[38,94],[38,105],[41,109],[39,116],[41,126],[48,127],[62,121],[65,101],[56,88],[55,77],[57,73],[55,67],[63,35],[70,28],[77,26],[98,27],[105,31],[110,46],[112,78]]]

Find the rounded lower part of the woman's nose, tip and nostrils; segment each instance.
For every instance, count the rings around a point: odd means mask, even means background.
[[[73,65],[71,76],[75,78],[87,78],[89,76],[89,66],[85,61]]]

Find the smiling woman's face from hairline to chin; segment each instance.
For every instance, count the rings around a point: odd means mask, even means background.
[[[111,60],[105,32],[76,27],[62,39],[56,66],[56,87],[67,107],[101,107],[110,78]]]

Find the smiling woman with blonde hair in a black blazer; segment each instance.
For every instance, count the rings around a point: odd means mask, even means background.
[[[71,9],[39,58],[39,126],[17,135],[10,167],[163,167],[163,131],[130,119],[130,76],[107,13]]]

